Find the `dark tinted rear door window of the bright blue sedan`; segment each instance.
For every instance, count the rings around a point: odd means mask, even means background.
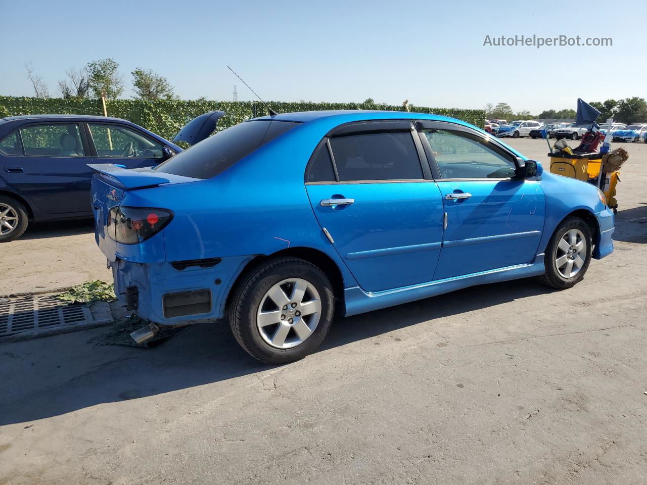
[[[409,131],[339,136],[330,145],[340,182],[424,178]]]

